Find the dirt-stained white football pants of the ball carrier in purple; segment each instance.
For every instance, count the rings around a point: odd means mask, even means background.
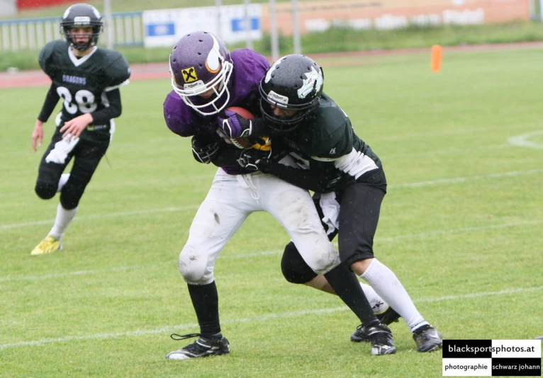
[[[290,156],[281,162],[286,159]],[[286,161],[293,165],[293,161]],[[307,190],[262,172],[229,175],[219,168],[179,254],[179,272],[184,280],[191,285],[213,282],[220,251],[245,219],[257,211],[269,212],[277,219],[315,273],[328,273],[340,264]],[[258,246],[254,241],[265,236],[255,235],[247,245]]]

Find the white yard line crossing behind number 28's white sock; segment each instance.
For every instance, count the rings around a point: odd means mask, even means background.
[[[478,176],[465,176],[465,177],[456,177],[456,178],[443,178],[440,180],[431,180],[431,181],[421,181],[419,183],[403,183],[403,184],[391,184],[388,185],[389,189],[398,189],[398,188],[421,188],[424,186],[432,185],[444,185],[444,184],[454,184],[454,183],[465,183],[468,181],[478,181],[484,180],[486,178],[503,178],[503,177],[513,177],[513,176],[523,176],[523,175],[534,175],[537,173],[542,173],[542,169],[532,169],[530,171],[513,171],[513,172],[504,172],[504,173],[490,173],[488,175],[478,175]],[[112,218],[112,217],[125,217],[130,215],[140,215],[140,214],[151,214],[157,212],[179,212],[186,210],[196,210],[199,205],[188,205],[184,207],[166,207],[164,209],[151,209],[151,210],[135,210],[132,212],[113,212],[111,214],[94,214],[87,217],[76,217],[74,220],[86,220],[86,219],[102,219],[102,218]],[[35,222],[23,222],[23,223],[12,223],[12,224],[0,224],[0,231],[8,229],[18,229],[22,227],[33,227],[39,226],[41,224],[52,224],[53,219],[42,220]]]

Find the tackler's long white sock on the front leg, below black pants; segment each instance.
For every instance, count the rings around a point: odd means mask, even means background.
[[[401,315],[411,332],[428,323],[418,312],[398,277],[379,260],[374,258],[360,277]]]

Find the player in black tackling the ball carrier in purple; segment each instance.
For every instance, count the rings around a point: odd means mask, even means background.
[[[287,151],[297,159],[305,169],[279,166],[250,149],[240,164],[313,190],[330,237],[339,230],[342,262],[405,319],[419,352],[437,350],[442,345],[440,333],[420,315],[392,270],[374,257],[374,234],[386,193],[381,161],[354,133],[345,112],[323,93],[323,84],[322,69],[312,59],[287,55],[272,64],[260,81],[264,119],[250,121],[233,115],[222,120],[220,129],[234,138],[271,135],[275,152]],[[316,275],[305,265],[296,247],[287,244],[281,262],[286,279],[314,280]],[[351,338],[362,341],[366,335],[359,328]]]

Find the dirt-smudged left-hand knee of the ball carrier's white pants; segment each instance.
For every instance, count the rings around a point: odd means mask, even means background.
[[[183,279],[191,285],[207,285],[213,282],[213,270],[208,268],[208,256],[196,246],[184,246],[179,253],[177,268]]]

